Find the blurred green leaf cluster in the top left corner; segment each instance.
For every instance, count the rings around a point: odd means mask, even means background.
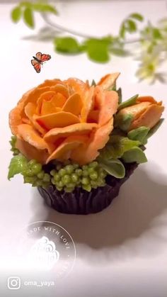
[[[14,9],[11,11],[11,19],[14,23],[23,18],[23,21],[29,28],[35,27],[35,21],[33,13],[37,11],[40,13],[54,13],[57,14],[57,10],[51,4],[43,1],[23,1],[20,2]]]

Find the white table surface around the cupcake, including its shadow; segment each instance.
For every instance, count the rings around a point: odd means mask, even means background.
[[[133,94],[149,94],[166,103],[166,84],[137,82],[137,62],[131,57],[113,57],[108,64],[91,62],[86,55],[58,55],[52,42],[37,40],[38,30],[45,26],[37,16],[35,31],[23,23],[11,23],[11,4],[0,5],[0,237],[1,276],[8,275],[8,252],[21,228],[38,220],[62,225],[74,239],[76,264],[62,286],[54,293],[43,290],[39,295],[88,297],[166,297],[167,296],[167,140],[166,121],[149,140],[146,155],[149,162],[122,186],[120,195],[105,211],[95,215],[64,215],[45,206],[35,189],[23,184],[21,176],[7,180],[11,159],[8,140],[8,112],[16,106],[23,92],[45,79],[79,77],[95,79],[120,71],[118,84],[124,99]],[[79,1],[57,5],[59,23],[86,33],[116,33],[120,21],[130,12],[139,11],[156,22],[166,16],[165,1]],[[46,52],[52,60],[40,74],[30,65],[35,52]],[[167,111],[167,109],[166,109]],[[167,112],[164,112],[166,117]],[[2,278],[1,278],[2,279]],[[1,284],[1,296],[18,296]],[[15,295],[15,293],[17,293]]]

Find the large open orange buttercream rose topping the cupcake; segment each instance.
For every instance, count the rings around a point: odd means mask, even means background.
[[[46,80],[25,93],[9,114],[18,150],[42,164],[96,159],[113,130],[118,95],[107,89],[118,75],[108,74],[96,86],[79,79]]]

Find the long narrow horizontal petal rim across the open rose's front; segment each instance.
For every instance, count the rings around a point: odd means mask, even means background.
[[[91,132],[93,128],[97,128],[96,123],[79,123],[69,125],[64,128],[54,128],[45,134],[44,139],[48,142],[55,142],[58,138],[69,137],[71,134],[86,134]]]

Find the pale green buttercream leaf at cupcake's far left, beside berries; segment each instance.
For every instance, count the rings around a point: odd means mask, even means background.
[[[23,172],[23,170],[27,167],[27,164],[28,159],[26,159],[23,155],[14,156],[8,167],[8,179],[10,180],[14,175]]]

